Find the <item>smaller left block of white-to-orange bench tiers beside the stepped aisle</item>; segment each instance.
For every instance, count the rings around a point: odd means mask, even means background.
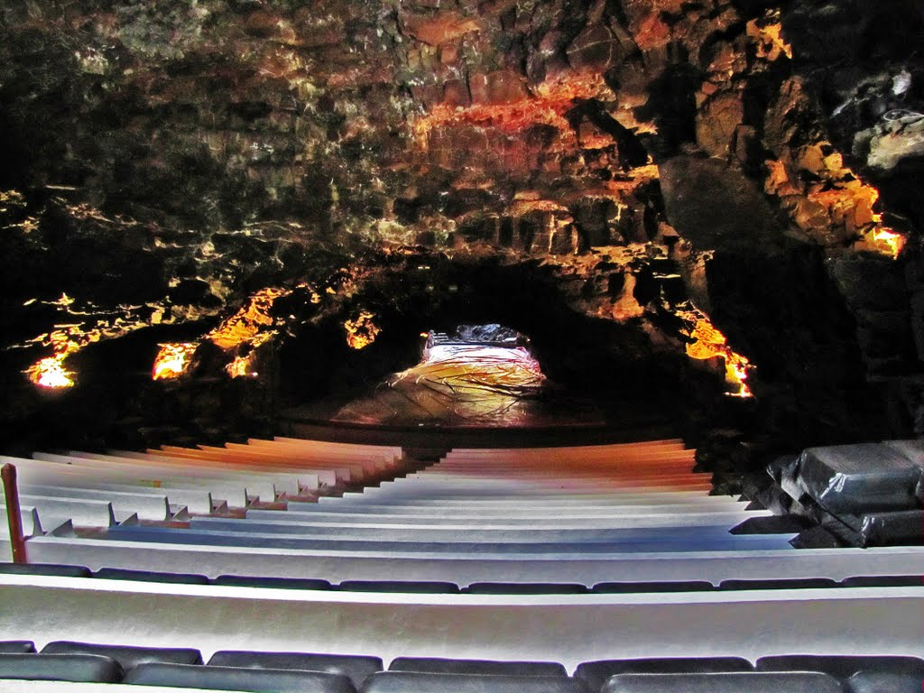
[[[107,528],[243,510],[257,503],[314,500],[406,470],[400,448],[288,440],[255,440],[227,449],[0,457],[0,464],[6,463],[18,470],[30,536],[67,521]]]

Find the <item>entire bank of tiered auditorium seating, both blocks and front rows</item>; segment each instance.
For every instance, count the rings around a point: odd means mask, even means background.
[[[32,562],[0,564],[4,690],[900,693],[924,677],[924,549],[748,533],[770,513],[711,495],[680,441],[35,457],[3,459]]]

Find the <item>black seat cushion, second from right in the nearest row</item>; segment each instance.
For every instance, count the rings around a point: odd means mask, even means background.
[[[765,674],[620,674],[601,693],[842,693],[837,679],[817,672]]]

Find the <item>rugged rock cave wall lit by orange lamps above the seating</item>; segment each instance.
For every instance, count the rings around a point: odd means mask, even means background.
[[[446,263],[609,325],[614,380],[662,364],[708,410],[700,376],[747,376],[754,436],[920,432],[922,27],[910,0],[5,7],[5,438],[265,430],[280,350],[364,313],[387,341],[453,305]]]

